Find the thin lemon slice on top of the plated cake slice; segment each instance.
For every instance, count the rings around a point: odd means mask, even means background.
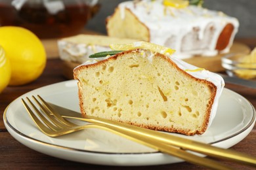
[[[133,42],[130,44],[110,44],[110,48],[112,50],[133,50],[136,48],[143,48],[147,50],[152,50],[153,52],[159,52],[161,54],[173,54],[175,50],[171,48],[167,48],[165,46],[160,46],[158,44],[153,44],[150,42],[144,42],[144,41],[139,41],[139,42]]]

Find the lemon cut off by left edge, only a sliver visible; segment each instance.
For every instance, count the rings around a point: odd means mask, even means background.
[[[9,84],[11,78],[11,65],[5,56],[5,50],[0,46],[0,93]]]

